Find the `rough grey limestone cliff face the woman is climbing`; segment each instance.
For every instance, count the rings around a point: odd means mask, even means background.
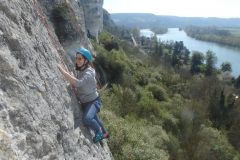
[[[58,26],[51,13],[63,2],[37,1],[72,71],[69,53],[88,41],[82,6],[75,0],[68,3],[84,42],[71,23],[64,26],[66,33],[72,30],[66,40],[55,34]],[[0,159],[113,159],[106,141],[93,143],[92,131],[82,125],[74,91],[56,63],[60,58],[34,0],[0,0]]]

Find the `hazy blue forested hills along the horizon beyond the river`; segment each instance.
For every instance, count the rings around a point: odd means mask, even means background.
[[[139,28],[153,26],[184,27],[186,25],[240,27],[240,18],[177,17],[151,13],[113,13],[111,18],[118,26],[137,26]]]

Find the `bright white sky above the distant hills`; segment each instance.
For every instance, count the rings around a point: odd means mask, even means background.
[[[240,18],[240,0],[103,0],[111,13]]]

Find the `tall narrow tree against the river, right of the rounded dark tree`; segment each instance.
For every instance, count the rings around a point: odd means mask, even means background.
[[[211,50],[206,53],[206,76],[214,74],[215,64],[217,63],[217,56]]]

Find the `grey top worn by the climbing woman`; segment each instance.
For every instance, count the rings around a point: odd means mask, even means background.
[[[98,97],[97,81],[95,79],[95,70],[91,67],[84,71],[78,71],[75,87],[81,103],[87,103]]]

